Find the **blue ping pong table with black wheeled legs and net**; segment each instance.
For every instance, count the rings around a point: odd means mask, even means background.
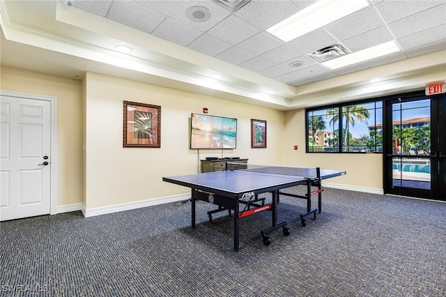
[[[326,178],[341,176],[345,171],[327,170],[306,167],[281,167],[247,165],[246,163],[227,163],[226,171],[208,172],[202,174],[188,174],[182,176],[163,177],[162,180],[176,185],[183,185],[192,191],[192,228],[195,228],[195,202],[206,201],[218,206],[211,215],[219,211],[233,211],[233,245],[237,252],[239,249],[239,220],[248,215],[261,211],[271,211],[271,227],[261,230],[263,244],[271,243],[270,234],[282,228],[283,234],[289,236],[290,231],[286,222],[277,222],[277,204],[279,196],[302,198],[307,200],[307,213],[300,214],[302,226],[305,226],[305,217],[321,213],[322,183]],[[307,185],[305,195],[295,195],[283,190],[296,185]],[[312,190],[316,187],[316,190]],[[265,204],[264,198],[259,194],[270,192],[271,202]],[[318,195],[318,208],[312,208],[312,195]],[[240,209],[241,208],[241,209]]]

